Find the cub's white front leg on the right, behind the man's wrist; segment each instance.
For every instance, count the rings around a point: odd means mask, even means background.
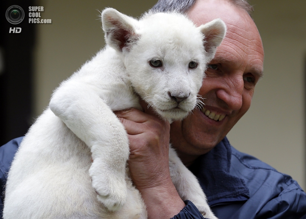
[[[169,168],[172,182],[183,200],[190,200],[201,212],[203,217],[218,219],[212,213],[197,178],[178,158],[173,148],[169,148]]]

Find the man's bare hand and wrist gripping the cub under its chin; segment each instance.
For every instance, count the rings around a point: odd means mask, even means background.
[[[177,194],[169,171],[170,124],[143,101],[144,112],[131,108],[117,111],[128,132],[129,170],[147,206],[149,218],[171,218],[185,203]]]

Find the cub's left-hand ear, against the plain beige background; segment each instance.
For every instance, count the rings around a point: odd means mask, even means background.
[[[126,47],[129,50],[129,46],[139,38],[136,34],[137,20],[113,8],[104,9],[101,18],[106,44],[114,49],[122,52]]]

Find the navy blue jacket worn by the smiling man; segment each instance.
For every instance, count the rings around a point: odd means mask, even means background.
[[[0,147],[0,189],[21,138]],[[241,153],[224,138],[189,169],[219,219],[306,219],[306,194],[290,176]],[[1,205],[3,196],[1,197]],[[192,202],[173,219],[203,219]]]

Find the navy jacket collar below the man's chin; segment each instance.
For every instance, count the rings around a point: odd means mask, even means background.
[[[209,205],[249,198],[243,179],[230,174],[232,149],[225,137],[215,148],[188,167],[198,178]]]

